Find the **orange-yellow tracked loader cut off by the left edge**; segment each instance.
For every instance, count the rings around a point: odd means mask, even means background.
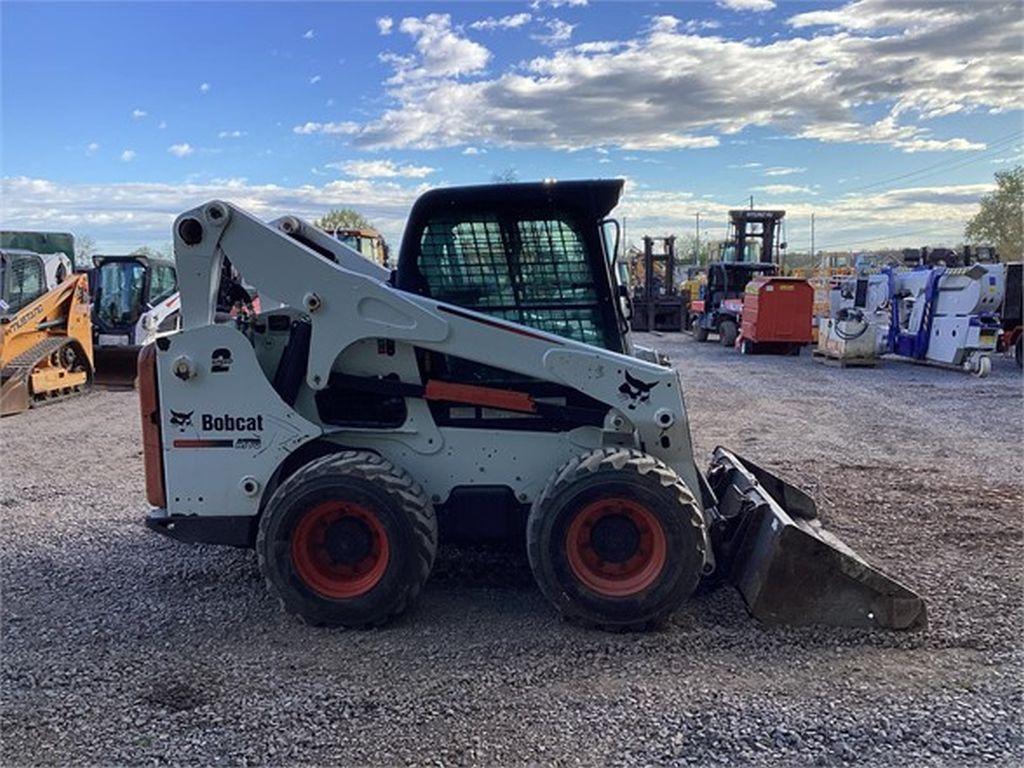
[[[89,282],[60,254],[0,250],[0,415],[92,383]],[[71,274],[71,276],[68,276]]]

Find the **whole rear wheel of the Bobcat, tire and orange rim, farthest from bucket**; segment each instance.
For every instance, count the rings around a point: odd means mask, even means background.
[[[423,488],[376,454],[316,459],[274,492],[256,552],[271,594],[306,624],[368,627],[404,611],[437,552]]]

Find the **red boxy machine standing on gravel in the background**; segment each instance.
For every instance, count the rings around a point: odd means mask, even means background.
[[[814,287],[802,278],[762,275],[746,284],[736,345],[743,354],[800,354],[811,343]]]

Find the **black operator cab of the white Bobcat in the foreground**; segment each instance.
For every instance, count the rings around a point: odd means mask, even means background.
[[[608,213],[620,179],[433,189],[413,206],[395,287],[628,350]]]

